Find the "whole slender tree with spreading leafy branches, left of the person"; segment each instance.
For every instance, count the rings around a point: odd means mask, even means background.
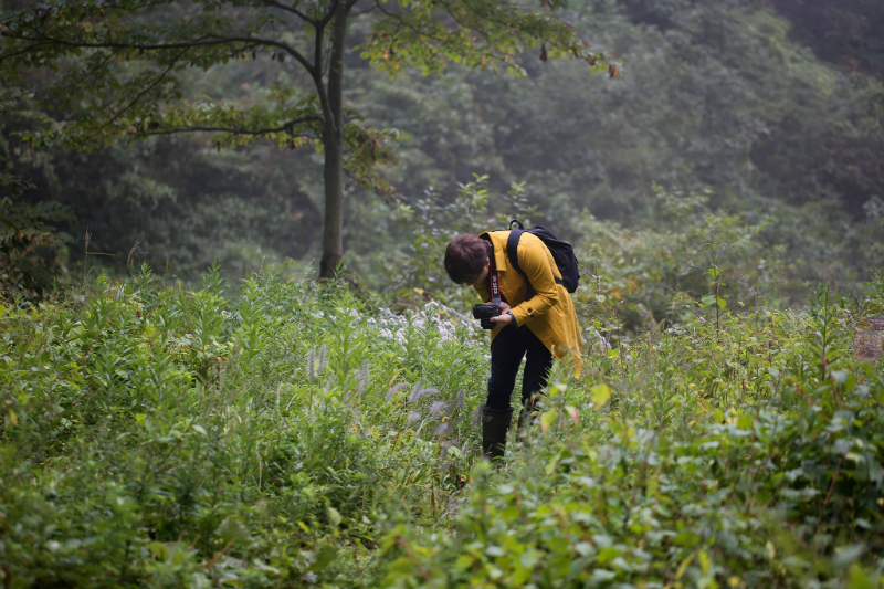
[[[27,136],[33,145],[88,149],[123,138],[212,132],[219,148],[257,138],[290,148],[322,147],[322,273],[329,275],[343,255],[344,169],[392,191],[373,172],[375,162],[391,161],[386,144],[392,132],[360,126],[343,104],[350,20],[370,14],[357,49],[391,76],[408,66],[440,73],[451,62],[519,74],[518,56],[538,49],[544,61],[579,59],[617,75],[617,64],[557,18],[566,6],[565,0],[55,1],[3,19],[0,76],[14,88],[22,72],[49,66],[57,73],[35,98],[63,114]],[[188,69],[262,57],[296,63],[292,83],[249,93],[242,102],[182,92]],[[7,106],[15,104],[15,92],[27,91],[7,91]]]

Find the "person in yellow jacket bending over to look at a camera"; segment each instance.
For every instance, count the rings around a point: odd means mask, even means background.
[[[486,305],[499,299],[501,315],[491,317],[488,397],[480,408],[482,453],[491,460],[504,455],[522,359],[526,358],[519,428],[547,383],[554,356],[571,356],[578,372],[582,366],[577,313],[552,254],[539,238],[522,233],[517,255],[523,276],[507,256],[509,233],[463,233],[445,249],[445,272],[454,283],[471,284]]]

